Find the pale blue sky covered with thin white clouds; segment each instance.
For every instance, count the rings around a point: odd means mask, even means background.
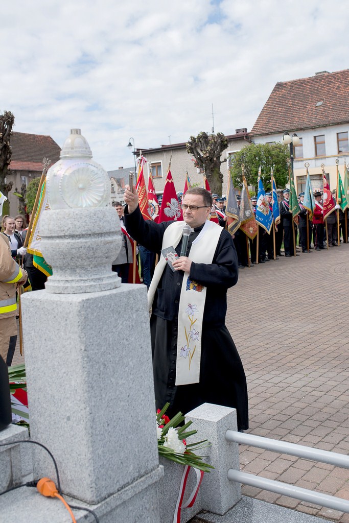
[[[5,21],[5,23],[4,23]],[[27,0],[2,5],[0,112],[107,170],[126,145],[253,124],[276,82],[348,69],[345,0]],[[171,137],[171,138],[168,138]]]

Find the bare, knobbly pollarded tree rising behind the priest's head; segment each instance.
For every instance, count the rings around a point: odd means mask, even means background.
[[[220,166],[227,161],[227,158],[221,160],[221,154],[228,147],[228,139],[221,132],[200,132],[197,137],[191,136],[186,146],[187,152],[195,158],[195,166],[204,168],[211,191],[221,195],[223,175]]]

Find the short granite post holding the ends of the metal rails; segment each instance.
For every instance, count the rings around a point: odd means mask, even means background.
[[[240,470],[239,445],[229,443],[226,432],[238,430],[235,408],[204,403],[185,416],[197,429],[197,440],[207,439],[211,446],[198,453],[215,470],[204,475],[201,483],[202,510],[224,514],[241,499],[241,485],[228,480],[228,469]]]

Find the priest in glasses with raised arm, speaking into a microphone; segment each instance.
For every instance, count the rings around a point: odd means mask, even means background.
[[[238,429],[249,427],[244,369],[225,325],[227,290],[238,281],[238,257],[228,231],[208,220],[210,193],[187,190],[184,221],[144,220],[136,188],[126,186],[128,233],[160,255],[148,292],[156,408],[168,416],[202,403],[237,409]],[[191,228],[181,256],[183,227]],[[168,251],[173,251],[168,256]],[[166,260],[166,258],[168,258]]]

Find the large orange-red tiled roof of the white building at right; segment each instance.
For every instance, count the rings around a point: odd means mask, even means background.
[[[322,105],[317,106],[322,101]],[[250,135],[349,122],[349,69],[278,82]]]

